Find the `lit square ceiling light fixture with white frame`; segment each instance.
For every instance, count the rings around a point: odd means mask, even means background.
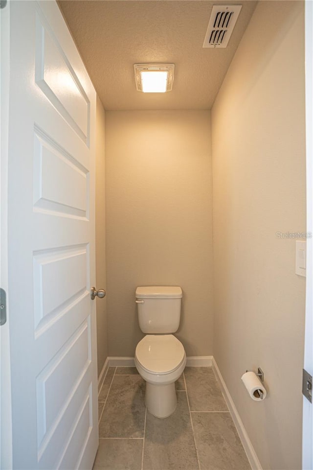
[[[136,90],[143,93],[170,92],[174,64],[134,64]]]

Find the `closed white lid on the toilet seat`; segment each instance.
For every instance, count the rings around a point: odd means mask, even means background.
[[[155,374],[176,369],[185,357],[185,350],[173,334],[147,334],[136,347],[136,359]]]

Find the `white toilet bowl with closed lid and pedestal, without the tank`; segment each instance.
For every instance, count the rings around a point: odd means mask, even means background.
[[[157,418],[167,418],[175,411],[175,382],[185,365],[184,347],[172,334],[148,334],[137,344],[135,366],[146,381],[146,406]]]

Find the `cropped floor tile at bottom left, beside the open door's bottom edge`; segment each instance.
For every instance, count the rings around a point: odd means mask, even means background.
[[[141,470],[143,439],[100,439],[93,470]]]

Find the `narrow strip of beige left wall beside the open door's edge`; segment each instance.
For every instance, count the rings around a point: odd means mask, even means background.
[[[96,111],[96,288],[106,289],[105,254],[105,112],[97,96]],[[108,356],[107,300],[97,302],[98,376]]]

